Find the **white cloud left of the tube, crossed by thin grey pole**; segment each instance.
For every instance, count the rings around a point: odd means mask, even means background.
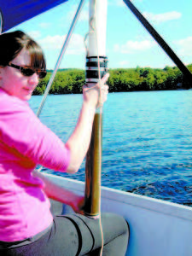
[[[65,39],[66,35],[47,36],[46,38],[38,40],[38,43],[42,46],[42,49],[61,49]],[[82,52],[84,52],[84,38],[79,34],[73,34],[67,46],[67,54],[80,55]]]

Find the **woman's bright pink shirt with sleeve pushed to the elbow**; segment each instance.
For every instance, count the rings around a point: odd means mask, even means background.
[[[0,89],[0,241],[20,241],[52,222],[37,164],[65,172],[70,153],[28,103]]]

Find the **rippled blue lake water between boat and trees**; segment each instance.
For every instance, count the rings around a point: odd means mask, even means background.
[[[32,96],[37,112],[42,96]],[[65,142],[81,95],[49,96],[40,119]],[[192,206],[192,90],[112,93],[103,108],[102,185]],[[52,170],[46,170],[53,172]],[[75,175],[84,181],[84,163]]]

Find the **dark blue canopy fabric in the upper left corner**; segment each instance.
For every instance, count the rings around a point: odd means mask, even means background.
[[[2,32],[65,2],[67,0],[0,0]]]

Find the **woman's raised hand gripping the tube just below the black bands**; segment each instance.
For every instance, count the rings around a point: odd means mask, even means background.
[[[105,84],[108,81],[109,73],[101,79],[101,82],[97,84],[85,84],[83,87],[84,102],[92,104],[92,106],[98,108],[106,102],[108,98],[108,85]]]

